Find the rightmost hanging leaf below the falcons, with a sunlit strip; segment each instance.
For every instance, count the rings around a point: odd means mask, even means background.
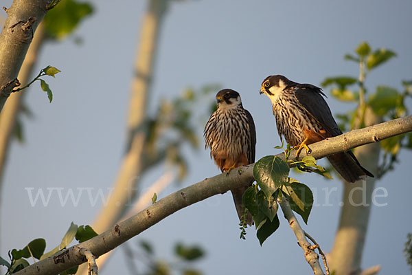
[[[308,186],[291,179],[292,183],[284,184],[282,191],[290,198],[290,208],[301,215],[304,222],[308,224],[310,210],[313,205],[313,194]]]

